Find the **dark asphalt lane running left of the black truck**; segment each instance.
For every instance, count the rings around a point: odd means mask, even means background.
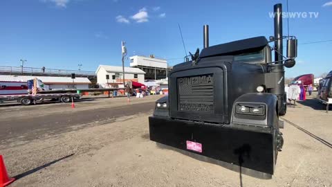
[[[101,100],[103,100],[103,98]],[[85,103],[84,105],[91,104]],[[116,121],[116,118],[122,116],[132,116],[149,112],[154,109],[154,105],[154,100],[151,100],[147,103],[133,103],[118,107],[112,107],[112,105],[109,105],[109,107],[95,108],[91,110],[77,111],[77,109],[71,109],[67,112],[61,112],[64,109],[68,109],[68,104],[62,105],[62,103],[29,107],[18,106],[11,111],[11,108],[9,107],[6,115],[0,116],[0,143],[4,144],[7,141],[17,140],[31,141],[43,136],[77,130],[86,126],[111,123]],[[44,110],[55,112],[39,115],[39,113],[42,113],[40,112],[40,107]],[[25,110],[28,114],[23,117],[17,117],[17,110],[19,110],[19,112]]]

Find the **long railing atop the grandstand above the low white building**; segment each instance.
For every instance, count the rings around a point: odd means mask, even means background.
[[[21,67],[21,66],[0,66],[0,73],[6,73],[10,75],[71,75],[75,73],[78,76],[96,75],[94,71],[78,71],[78,70],[66,70],[66,69],[42,69],[33,67]]]

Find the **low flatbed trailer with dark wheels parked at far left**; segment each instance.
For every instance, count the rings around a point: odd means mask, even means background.
[[[42,103],[44,100],[57,100],[62,103],[69,103],[71,100],[80,99],[81,96],[81,94],[77,93],[1,95],[0,103],[10,100],[17,100],[17,103],[21,103],[21,105]]]

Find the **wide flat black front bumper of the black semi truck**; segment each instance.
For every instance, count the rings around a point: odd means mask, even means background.
[[[149,134],[151,141],[181,150],[187,150],[186,141],[201,143],[202,152],[187,151],[270,175],[274,172],[276,151],[273,132],[150,116]]]

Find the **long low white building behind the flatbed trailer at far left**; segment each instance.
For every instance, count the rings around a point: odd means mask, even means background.
[[[89,89],[91,81],[88,78],[26,76],[26,75],[0,75],[0,82],[27,82],[37,78],[48,85],[50,89]]]

